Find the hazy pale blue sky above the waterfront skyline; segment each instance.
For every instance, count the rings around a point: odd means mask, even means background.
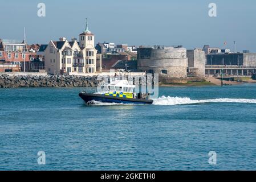
[[[46,4],[46,17],[37,16],[37,5]],[[217,4],[217,17],[208,16],[208,5]],[[212,47],[250,49],[256,52],[255,0],[22,0],[1,2],[2,39],[48,43],[65,36],[68,40],[84,30],[85,19],[97,42],[129,45],[180,45],[191,49]]]

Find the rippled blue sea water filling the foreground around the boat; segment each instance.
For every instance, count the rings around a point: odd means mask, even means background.
[[[256,84],[160,88],[155,105],[86,106],[82,90],[0,89],[0,170],[256,170]]]

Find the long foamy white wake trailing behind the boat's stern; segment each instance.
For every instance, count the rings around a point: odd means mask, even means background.
[[[186,105],[186,104],[200,104],[208,102],[236,102],[236,103],[250,103],[256,104],[256,99],[245,98],[214,98],[207,100],[191,100],[188,97],[159,97],[153,100],[154,105]]]

